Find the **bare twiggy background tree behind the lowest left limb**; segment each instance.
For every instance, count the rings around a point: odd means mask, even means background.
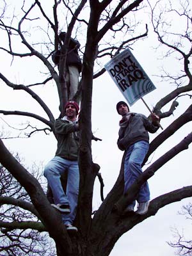
[[[15,159],[22,164],[18,154]],[[32,166],[31,174],[44,185],[38,173],[40,171],[37,166]],[[29,195],[2,165],[0,182],[0,254],[56,255],[53,243],[40,223],[38,212],[31,205]],[[29,223],[35,225],[35,229],[32,226],[29,229]]]

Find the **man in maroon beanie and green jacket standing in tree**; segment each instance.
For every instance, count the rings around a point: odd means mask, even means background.
[[[65,105],[65,116],[55,122],[58,140],[56,156],[45,166],[44,176],[52,190],[54,204],[62,214],[62,220],[68,231],[77,232],[72,225],[76,217],[79,194],[79,124],[77,115],[79,106],[70,100]],[[61,185],[61,175],[68,171],[66,193]]]

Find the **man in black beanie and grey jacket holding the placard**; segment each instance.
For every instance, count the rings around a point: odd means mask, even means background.
[[[152,120],[138,113],[131,113],[127,103],[120,101],[116,104],[116,110],[122,115],[120,120],[120,130],[118,132],[117,145],[120,150],[125,150],[124,162],[124,193],[141,175],[141,164],[148,152],[149,137],[148,132],[156,132],[159,129],[159,116],[154,113],[151,115]],[[137,214],[145,214],[148,211],[150,200],[150,191],[148,182],[141,186],[138,193]],[[134,212],[136,202],[132,202],[125,209],[126,212]]]

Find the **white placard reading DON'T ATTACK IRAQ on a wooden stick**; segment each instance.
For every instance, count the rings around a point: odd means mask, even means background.
[[[130,106],[156,89],[129,49],[116,55],[104,67]]]

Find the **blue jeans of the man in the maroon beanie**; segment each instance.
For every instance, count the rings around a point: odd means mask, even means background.
[[[61,175],[68,170],[66,194],[61,185]],[[44,176],[52,190],[54,204],[70,205],[70,213],[62,214],[65,224],[72,224],[76,218],[77,200],[79,195],[79,166],[77,161],[70,161],[55,156],[45,166]]]

